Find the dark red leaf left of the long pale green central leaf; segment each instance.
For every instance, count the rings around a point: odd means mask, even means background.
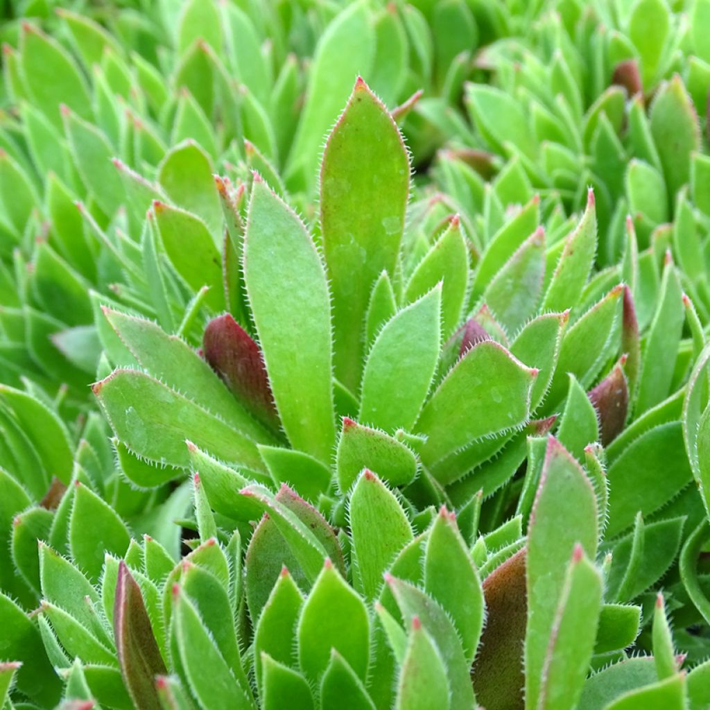
[[[204,359],[226,386],[261,422],[278,427],[261,350],[229,313],[207,324],[203,337]]]

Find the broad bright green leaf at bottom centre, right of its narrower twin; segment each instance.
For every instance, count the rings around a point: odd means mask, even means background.
[[[364,680],[369,662],[370,621],[364,602],[326,559],[298,621],[298,659],[318,682],[337,650]]]

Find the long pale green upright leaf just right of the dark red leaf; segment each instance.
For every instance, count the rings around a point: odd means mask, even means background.
[[[326,275],[305,226],[261,181],[249,202],[244,280],[283,429],[295,449],[327,463],[335,422]]]

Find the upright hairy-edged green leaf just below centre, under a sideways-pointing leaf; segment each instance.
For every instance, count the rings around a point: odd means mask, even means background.
[[[383,573],[413,539],[412,529],[397,498],[367,469],[353,488],[348,510],[356,559],[354,586],[371,601],[381,588]]]

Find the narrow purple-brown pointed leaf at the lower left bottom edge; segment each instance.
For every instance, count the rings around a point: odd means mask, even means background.
[[[126,563],[119,564],[114,636],[121,675],[138,710],[160,710],[155,676],[168,672],[153,635],[141,589]]]

